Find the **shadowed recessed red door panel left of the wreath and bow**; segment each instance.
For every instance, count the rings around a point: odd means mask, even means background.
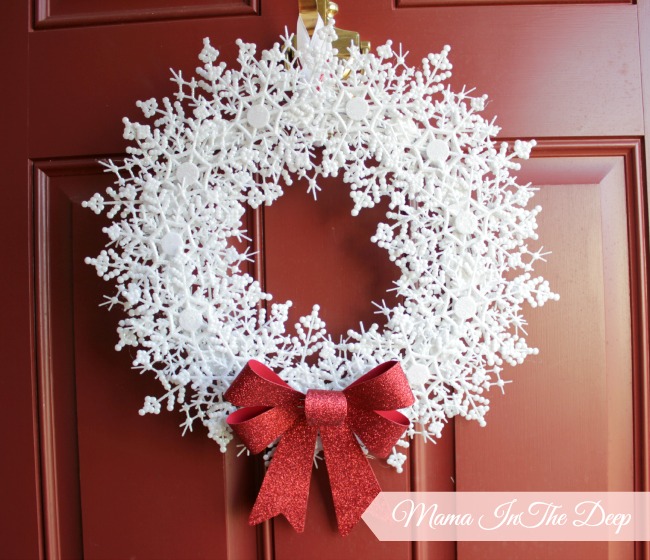
[[[121,314],[100,307],[105,284],[83,262],[103,248],[106,221],[81,202],[111,178],[94,159],[35,167],[50,554],[198,559],[225,550],[229,559],[254,557],[256,531],[247,518],[259,466],[237,457],[234,446],[222,455],[202,431],[179,437],[178,413],[137,414],[158,383],[143,378],[132,386],[132,356],[114,350]],[[168,438],[180,447],[165,445]]]

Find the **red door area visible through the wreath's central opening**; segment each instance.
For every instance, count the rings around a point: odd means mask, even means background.
[[[400,271],[386,251],[372,243],[377,223],[386,221],[388,202],[351,216],[350,188],[341,178],[319,178],[317,201],[297,183],[264,209],[266,291],[274,301],[291,300],[289,329],[315,304],[332,339],[386,316],[374,303],[392,307]]]

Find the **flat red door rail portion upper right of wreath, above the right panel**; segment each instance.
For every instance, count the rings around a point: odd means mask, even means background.
[[[397,9],[373,44],[397,33],[412,63],[451,45],[452,84],[488,94],[510,138],[643,134],[636,5]]]

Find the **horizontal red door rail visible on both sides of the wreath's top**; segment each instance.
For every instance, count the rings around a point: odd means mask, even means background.
[[[402,41],[412,64],[451,45],[454,87],[487,93],[486,115],[508,137],[643,134],[636,6],[341,9],[341,26],[373,45]],[[232,62],[238,37],[270,46],[296,13],[282,0],[260,17],[33,33],[32,157],[123,151],[122,117],[140,119],[137,99],[173,94],[169,68],[191,74],[203,37]]]

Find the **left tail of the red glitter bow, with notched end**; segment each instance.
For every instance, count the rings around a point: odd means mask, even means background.
[[[251,511],[251,525],[282,514],[298,533],[304,531],[316,434],[315,427],[298,421],[282,436]]]

